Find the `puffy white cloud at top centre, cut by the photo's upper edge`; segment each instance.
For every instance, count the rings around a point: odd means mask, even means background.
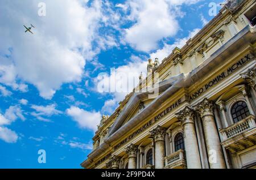
[[[130,7],[129,18],[133,22],[125,29],[125,40],[133,48],[150,52],[158,48],[158,41],[174,36],[179,24],[165,0],[127,1]]]

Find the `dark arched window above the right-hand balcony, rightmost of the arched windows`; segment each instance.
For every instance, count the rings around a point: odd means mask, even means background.
[[[231,114],[232,114],[234,123],[237,123],[242,119],[245,119],[247,116],[249,116],[250,112],[247,104],[244,101],[238,101],[236,104],[233,105]]]

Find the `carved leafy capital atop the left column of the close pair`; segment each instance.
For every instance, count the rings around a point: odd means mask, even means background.
[[[185,125],[186,123],[194,123],[195,113],[188,106],[185,106],[183,110],[181,110],[179,113],[175,115],[176,118],[180,119],[182,125]]]

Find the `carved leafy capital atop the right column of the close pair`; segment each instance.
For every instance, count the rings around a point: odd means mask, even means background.
[[[199,102],[199,104],[195,106],[195,111],[198,112],[203,118],[205,115],[213,116],[213,108],[213,102],[209,101],[208,98],[205,98],[203,101]]]

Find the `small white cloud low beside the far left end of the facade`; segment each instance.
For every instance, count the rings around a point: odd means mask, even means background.
[[[88,130],[97,131],[97,125],[99,125],[101,121],[100,112],[88,112],[75,106],[71,106],[71,108],[67,109],[66,113],[72,117],[73,121],[78,123],[79,127]]]

